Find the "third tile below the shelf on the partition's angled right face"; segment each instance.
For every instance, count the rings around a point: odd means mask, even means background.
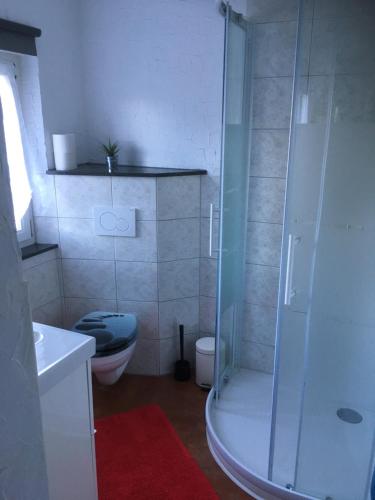
[[[159,300],[197,297],[199,294],[199,259],[158,264]]]

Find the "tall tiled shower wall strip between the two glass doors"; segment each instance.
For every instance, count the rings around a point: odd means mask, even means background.
[[[272,372],[298,2],[255,0],[248,14],[254,107],[241,364]]]

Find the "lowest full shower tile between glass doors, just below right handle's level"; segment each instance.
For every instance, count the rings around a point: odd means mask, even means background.
[[[245,304],[242,338],[258,344],[274,346],[276,319],[276,307]]]

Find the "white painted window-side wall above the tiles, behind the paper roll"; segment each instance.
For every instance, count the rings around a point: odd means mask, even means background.
[[[48,164],[53,165],[55,132],[77,133],[79,159],[84,160],[79,2],[2,0],[0,17],[42,30],[37,51]]]

